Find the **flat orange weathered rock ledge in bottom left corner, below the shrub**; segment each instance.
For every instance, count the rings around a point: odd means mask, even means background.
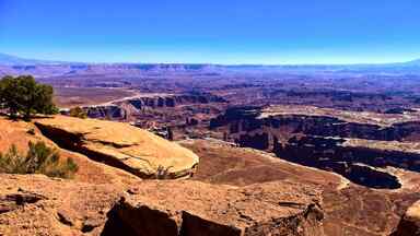
[[[100,235],[122,185],[0,174],[0,235]]]

